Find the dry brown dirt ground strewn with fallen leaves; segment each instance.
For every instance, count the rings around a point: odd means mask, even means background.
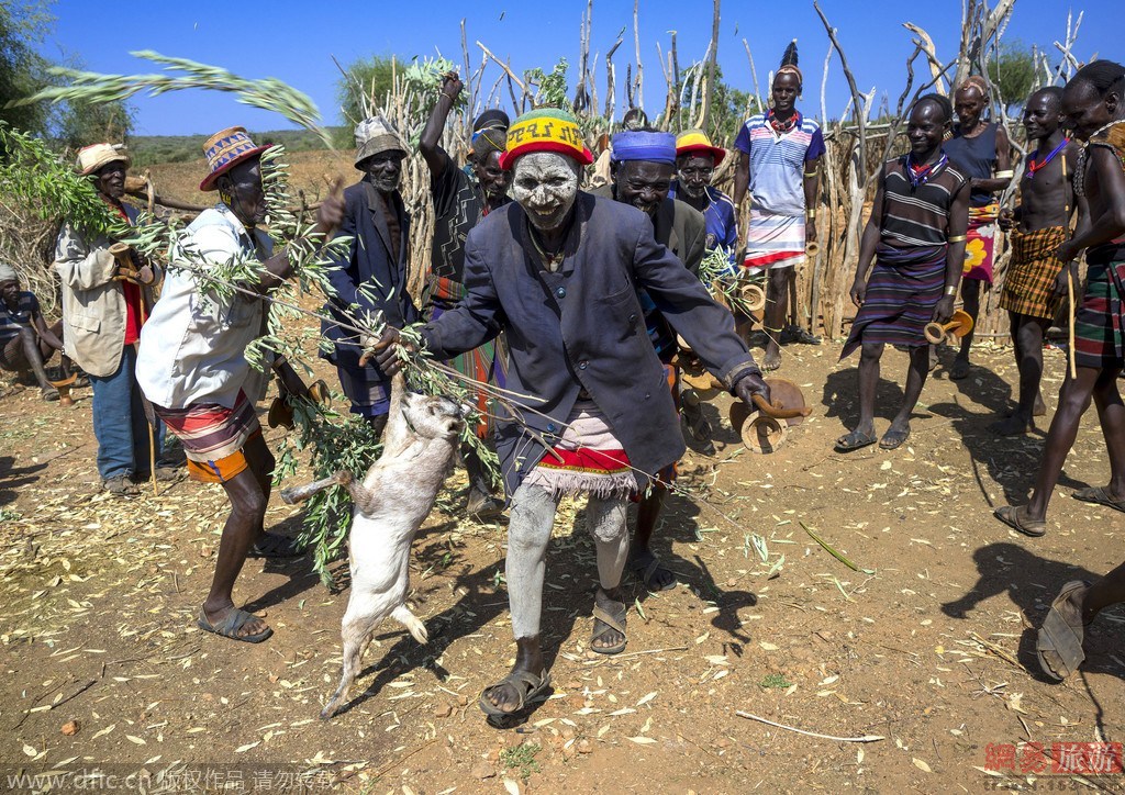
[[[1050,531],[1032,540],[991,517],[993,506],[1026,499],[1043,444],[1042,432],[999,440],[987,431],[1009,401],[1010,351],[982,346],[984,367],[961,382],[939,368],[903,449],[843,455],[831,442],[855,418],[855,361],[837,364],[838,344],[786,350],[780,374],[802,386],[813,416],[762,457],[720,422],[729,399],[712,403],[721,449],[688,453],[683,482],[694,496],[669,502],[656,544],[681,585],[656,595],[627,581],[636,602],[620,657],[586,651],[593,548],[578,506],[560,512],[544,616],[554,693],[503,731],[476,701],[514,652],[500,579],[504,521],[461,515],[464,475],[414,544],[413,604],[430,643],[386,625],[349,708],[322,722],[340,671],[346,589],[330,593],[307,559],[252,560],[236,598],[266,616],[273,636],[250,645],[200,632],[222,491],[183,481],[159,497],[99,494],[89,390],[63,409],[7,385],[3,775],[143,768],[186,791],[1119,792],[1122,776],[1020,771],[1035,762],[1028,741],[1050,752],[1053,742],[1119,742],[1125,732],[1125,612],[1098,620],[1081,674],[1063,685],[1036,674],[1028,629],[1063,582],[1122,559],[1125,516],[1069,498],[1108,477],[1094,413]],[[886,355],[880,430],[901,396],[904,360]],[[1063,358],[1052,351],[1047,361],[1053,410]],[[279,434],[267,437],[276,444]],[[274,497],[268,526],[291,533],[298,522]],[[765,563],[752,533],[765,539]],[[345,579],[346,564],[335,569]],[[880,739],[806,737],[737,711]],[[1015,769],[990,775],[998,760],[988,747],[1005,744],[1018,746]],[[207,765],[210,778],[199,778]]]

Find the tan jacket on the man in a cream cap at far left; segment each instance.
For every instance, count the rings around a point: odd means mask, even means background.
[[[129,223],[136,210],[125,205]],[[117,261],[107,237],[88,241],[64,223],[55,244],[55,270],[62,279],[63,346],[88,374],[112,376],[125,347],[125,293],[114,280]],[[158,279],[159,279],[158,274]]]

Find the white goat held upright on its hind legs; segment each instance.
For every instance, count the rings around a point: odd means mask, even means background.
[[[356,503],[348,540],[351,594],[341,622],[343,672],[321,712],[322,719],[332,717],[346,699],[363,652],[388,616],[410,630],[418,643],[429,640],[425,625],[406,606],[411,542],[452,468],[462,415],[464,409],[448,398],[406,392],[402,374],[395,376],[384,453],[363,482],[338,472],[281,494],[286,502],[297,502],[341,485]]]

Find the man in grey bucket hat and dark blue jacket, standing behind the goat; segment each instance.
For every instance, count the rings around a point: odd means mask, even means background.
[[[404,157],[406,142],[382,116],[356,127],[354,164],[363,178],[344,190],[344,223],[336,236],[351,238],[351,244],[348,255],[335,256],[328,270],[336,295],[324,307],[344,326],[352,317],[376,313],[394,326],[421,318],[406,292],[411,217],[398,192]],[[360,363],[354,335],[344,326],[321,322],[321,334],[335,343],[321,355],[336,365],[352,414],[382,433],[390,409],[390,377],[375,362]]]

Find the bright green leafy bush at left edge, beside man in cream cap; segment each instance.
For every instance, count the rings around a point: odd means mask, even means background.
[[[65,218],[86,234],[118,236],[128,227],[109,213],[93,182],[52,152],[40,138],[0,123],[0,192],[43,220]]]

